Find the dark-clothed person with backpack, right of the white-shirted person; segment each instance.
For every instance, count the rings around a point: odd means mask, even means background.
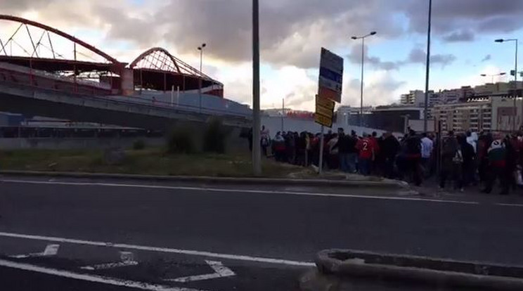
[[[461,169],[463,165],[463,153],[460,150],[458,139],[454,131],[448,131],[448,136],[443,141],[441,150],[441,172],[439,173],[439,188],[445,188],[445,182],[449,176],[453,179],[454,187],[461,188]]]

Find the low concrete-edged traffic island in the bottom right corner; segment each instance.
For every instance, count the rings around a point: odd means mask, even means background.
[[[523,266],[353,250],[323,250],[304,291],[523,290]]]

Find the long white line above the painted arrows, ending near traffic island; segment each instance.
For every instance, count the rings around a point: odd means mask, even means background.
[[[105,243],[100,241],[93,240],[77,240],[72,238],[57,238],[52,236],[43,236],[43,235],[27,235],[20,233],[4,233],[0,232],[0,237],[6,238],[24,238],[27,240],[44,240],[49,242],[57,243],[72,243],[77,245],[93,245],[98,247],[116,247],[124,250],[144,250],[150,252],[167,252],[172,254],[186,254],[191,256],[200,256],[200,257],[209,257],[209,258],[219,258],[219,259],[231,259],[235,261],[254,261],[257,263],[267,263],[267,264],[280,264],[288,266],[316,266],[316,264],[308,261],[292,261],[288,259],[273,259],[266,257],[252,257],[246,256],[243,254],[221,254],[217,252],[206,252],[206,251],[197,251],[197,250],[181,250],[181,249],[172,249],[168,247],[149,247],[145,245],[129,245],[125,243]]]

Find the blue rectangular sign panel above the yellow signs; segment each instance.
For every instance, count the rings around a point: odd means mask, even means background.
[[[343,58],[321,48],[318,94],[340,103],[343,87]]]

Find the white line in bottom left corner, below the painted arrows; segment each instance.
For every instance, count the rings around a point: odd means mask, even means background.
[[[51,276],[58,276],[62,278],[70,278],[75,280],[84,280],[92,283],[102,283],[115,286],[131,287],[141,290],[151,290],[151,291],[204,291],[191,288],[180,288],[180,287],[170,287],[164,285],[154,285],[149,283],[131,281],[131,280],[119,280],[115,278],[107,278],[103,276],[88,275],[82,273],[73,273],[70,271],[63,271],[58,269],[51,269],[41,266],[34,266],[30,264],[16,263],[14,261],[6,261],[0,259],[0,266],[19,269],[23,271],[31,271],[37,273],[44,273]]]

